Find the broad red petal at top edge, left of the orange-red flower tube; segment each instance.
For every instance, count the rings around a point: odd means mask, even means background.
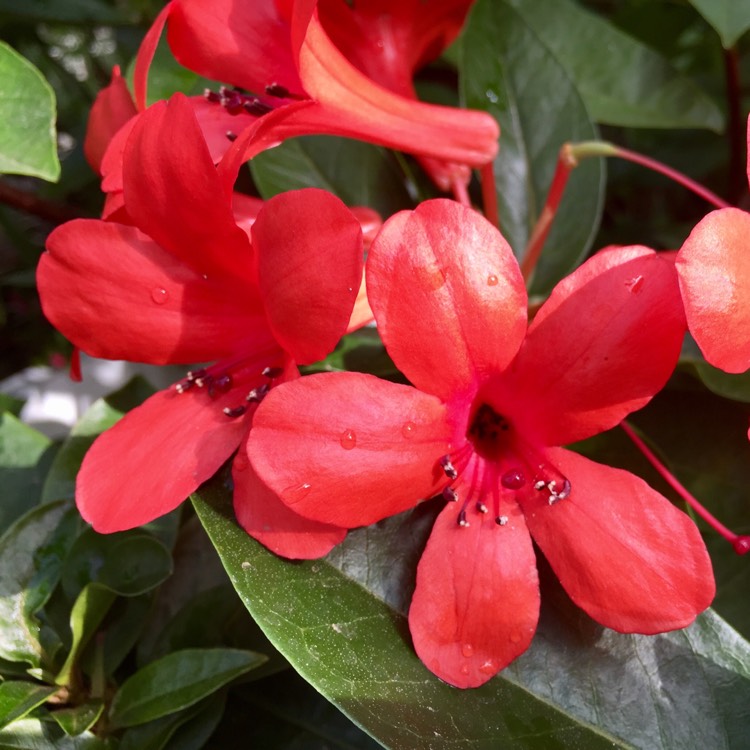
[[[167,38],[186,67],[263,94],[271,83],[302,93],[289,25],[273,0],[175,0]]]

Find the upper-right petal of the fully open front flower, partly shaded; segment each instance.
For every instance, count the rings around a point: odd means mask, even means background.
[[[546,445],[595,435],[662,388],[684,334],[674,264],[645,247],[603,250],[552,291],[498,406]]]

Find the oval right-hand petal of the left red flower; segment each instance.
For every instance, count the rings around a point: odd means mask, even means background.
[[[258,281],[277,341],[300,363],[346,332],[362,279],[362,229],[334,195],[308,188],[269,201],[252,226]]]

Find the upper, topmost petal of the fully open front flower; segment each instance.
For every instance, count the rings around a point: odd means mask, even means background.
[[[454,201],[426,201],[385,223],[367,289],[399,369],[444,400],[503,369],[526,331],[526,289],[510,246]]]

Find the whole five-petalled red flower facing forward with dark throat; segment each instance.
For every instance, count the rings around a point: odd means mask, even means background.
[[[302,515],[373,523],[442,493],[409,612],[443,680],[477,686],[537,623],[533,539],[574,602],[623,632],[683,627],[714,583],[692,521],[641,479],[556,447],[617,425],[672,372],[684,334],[674,266],[604,250],[533,323],[500,233],[428,201],[392,217],[367,261],[383,341],[414,387],[313,375],[273,391],[248,450]]]

